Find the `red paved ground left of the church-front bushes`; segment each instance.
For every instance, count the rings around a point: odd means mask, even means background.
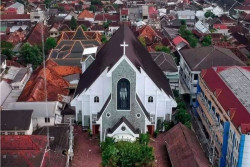
[[[87,132],[82,132],[80,126],[75,126],[74,157],[71,167],[99,167],[101,151],[99,140],[90,138]]]

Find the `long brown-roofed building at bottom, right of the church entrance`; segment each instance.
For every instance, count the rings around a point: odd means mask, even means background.
[[[161,140],[166,144],[172,166],[210,167],[195,133],[182,123],[167,131]],[[163,145],[164,145],[163,144]]]

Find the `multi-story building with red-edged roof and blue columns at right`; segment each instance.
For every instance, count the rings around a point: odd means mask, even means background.
[[[210,160],[221,167],[250,165],[249,112],[250,67],[201,71],[196,114],[210,147]]]

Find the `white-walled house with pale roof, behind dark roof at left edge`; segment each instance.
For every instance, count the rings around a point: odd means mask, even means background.
[[[62,106],[62,103],[58,101],[15,102],[9,103],[6,110],[33,110],[32,124],[35,130],[43,126],[54,126],[62,123]]]

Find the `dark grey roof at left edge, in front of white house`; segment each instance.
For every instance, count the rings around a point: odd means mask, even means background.
[[[28,130],[33,110],[2,110],[1,130]]]

